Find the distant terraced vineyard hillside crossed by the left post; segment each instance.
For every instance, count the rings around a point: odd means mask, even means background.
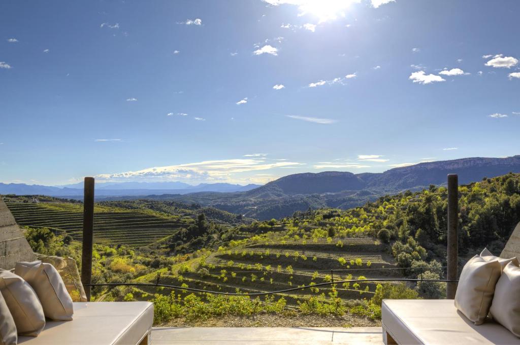
[[[74,203],[6,203],[19,225],[65,231],[82,240],[83,205]],[[144,212],[96,207],[94,241],[141,247],[172,236],[185,222]]]

